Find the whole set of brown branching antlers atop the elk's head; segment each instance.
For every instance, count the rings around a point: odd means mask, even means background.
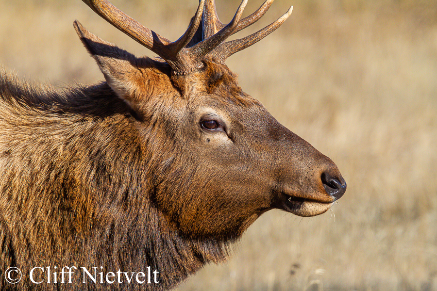
[[[220,22],[217,16],[214,0],[199,0],[195,16],[188,29],[176,41],[167,38],[141,25],[135,19],[127,16],[107,0],[83,0],[94,12],[114,25],[120,31],[132,37],[135,41],[150,49],[168,65],[175,75],[185,75],[203,66],[203,58],[211,58],[223,63],[229,56],[260,41],[269,33],[276,30],[291,14],[291,8],[281,18],[239,40],[223,43],[230,35],[238,32],[261,18],[269,9],[273,0],[266,0],[257,11],[240,21],[247,0],[243,0],[234,18],[227,25]],[[202,21],[202,41],[189,48],[185,48],[196,34]]]

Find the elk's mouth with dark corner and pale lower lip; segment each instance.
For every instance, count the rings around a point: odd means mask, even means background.
[[[311,198],[295,197],[284,192],[280,193],[279,200],[280,209],[303,217],[322,214],[334,204],[334,201],[326,202]]]

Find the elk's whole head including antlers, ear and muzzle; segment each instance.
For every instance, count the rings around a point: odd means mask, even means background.
[[[291,8],[264,29],[224,42],[263,16],[273,0],[240,20],[243,0],[227,25],[218,20],[214,0],[200,0],[184,35],[170,42],[106,0],[84,2],[162,58],[136,58],[74,23],[134,116],[132,142],[147,153],[141,169],[147,199],[180,233],[237,238],[267,210],[318,215],[344,194],[335,163],[244,93],[224,64],[276,30]]]

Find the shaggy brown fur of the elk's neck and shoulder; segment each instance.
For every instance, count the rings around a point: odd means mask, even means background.
[[[26,248],[0,248],[11,254],[5,265],[22,272],[50,261],[105,272],[150,266],[161,290],[228,257],[229,239],[184,237],[154,205],[151,153],[138,146],[138,121],[106,83],[56,92],[0,76],[0,204],[9,205],[6,219],[28,226],[18,234]],[[10,242],[11,232],[0,241]],[[154,284],[126,288],[145,285]]]

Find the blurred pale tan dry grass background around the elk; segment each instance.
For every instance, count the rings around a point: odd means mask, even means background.
[[[197,1],[113,0],[169,39]],[[251,0],[245,15],[261,0]],[[218,1],[229,21],[235,0]],[[179,291],[437,290],[437,0],[277,0],[252,33],[289,20],[227,65],[281,123],[331,157],[348,191],[327,213],[279,210],[250,227],[226,264]],[[0,0],[0,63],[55,86],[103,80],[72,22],[151,55],[80,0]]]

